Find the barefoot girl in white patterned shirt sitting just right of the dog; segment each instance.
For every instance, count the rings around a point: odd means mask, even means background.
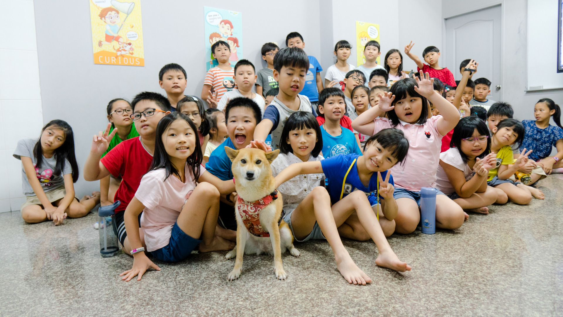
[[[322,93],[321,93],[322,95]],[[320,98],[320,97],[319,97]],[[281,153],[270,164],[274,176],[293,163],[320,162],[323,136],[315,117],[298,111],[287,119],[282,131]],[[297,242],[327,239],[336,260],[336,267],[348,283],[365,285],[369,278],[352,261],[342,244],[330,210],[330,196],[323,187],[323,173],[295,176],[279,185],[283,197],[283,220],[288,224]]]

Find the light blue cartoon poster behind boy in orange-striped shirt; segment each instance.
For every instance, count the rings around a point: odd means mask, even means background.
[[[225,41],[231,49],[230,62],[235,65],[243,59],[242,41],[242,13],[229,10],[203,7],[205,24],[205,56],[209,59],[205,61],[207,70],[217,65],[217,60],[213,59],[211,46],[217,41]]]

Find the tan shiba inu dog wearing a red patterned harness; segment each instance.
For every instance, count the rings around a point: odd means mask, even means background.
[[[264,152],[260,149],[233,150],[225,147],[227,156],[233,162],[236,193],[235,204],[236,247],[227,253],[227,260],[236,255],[235,267],[228,280],[239,277],[243,266],[244,253],[260,255],[274,254],[274,270],[280,280],[286,278],[282,265],[282,251],[289,250],[292,256],[300,256],[293,246],[293,234],[282,220],[282,194],[276,191],[270,163],[278,156],[279,150]]]

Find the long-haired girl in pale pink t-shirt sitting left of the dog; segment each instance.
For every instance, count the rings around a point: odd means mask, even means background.
[[[215,233],[219,195],[233,193],[235,185],[221,181],[201,166],[203,154],[197,131],[192,120],[178,112],[158,123],[153,163],[125,209],[134,260],[132,269],[120,274],[123,280],[137,275],[140,280],[150,267],[160,270],[145,252],[161,261],[177,262],[198,244],[200,252],[235,246]],[[138,230],[141,212],[142,230]]]

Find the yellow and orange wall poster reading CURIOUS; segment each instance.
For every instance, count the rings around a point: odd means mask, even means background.
[[[94,64],[145,66],[141,0],[88,0]]]

